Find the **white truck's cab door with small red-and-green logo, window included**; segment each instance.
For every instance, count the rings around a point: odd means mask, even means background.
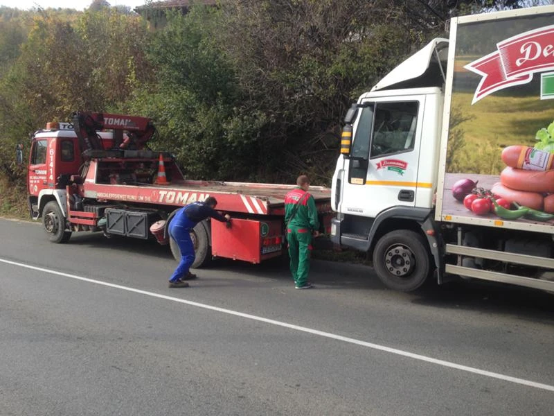
[[[346,160],[341,212],[375,218],[395,206],[415,206],[425,96],[362,103]]]

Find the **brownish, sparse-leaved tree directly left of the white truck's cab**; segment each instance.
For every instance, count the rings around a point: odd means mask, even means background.
[[[246,99],[242,114],[263,114],[258,168],[290,180],[332,174],[341,116],[419,43],[399,31],[402,10],[384,1],[229,0],[218,33]]]

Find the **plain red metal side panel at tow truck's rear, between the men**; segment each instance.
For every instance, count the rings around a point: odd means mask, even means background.
[[[233,218],[231,228],[212,220],[212,254],[227,259],[260,263],[260,222]]]

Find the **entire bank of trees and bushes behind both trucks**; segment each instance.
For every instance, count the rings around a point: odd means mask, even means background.
[[[328,183],[351,101],[451,17],[529,3],[540,0],[193,2],[156,31],[105,0],[0,7],[0,175],[22,181],[13,149],[29,132],[91,110],[152,117],[151,146],[189,177]]]

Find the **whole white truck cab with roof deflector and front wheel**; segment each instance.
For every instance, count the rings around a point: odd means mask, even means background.
[[[384,262],[377,274],[400,290],[433,269],[423,243],[434,227],[447,51],[448,40],[430,42],[359,97],[332,178],[332,241]]]

